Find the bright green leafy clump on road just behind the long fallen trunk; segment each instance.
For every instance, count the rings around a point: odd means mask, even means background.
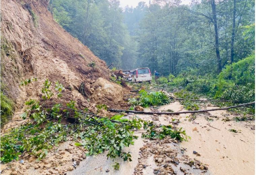
[[[138,104],[146,108],[149,106],[159,106],[170,102],[169,97],[164,92],[150,92],[145,90],[139,91],[141,95]]]

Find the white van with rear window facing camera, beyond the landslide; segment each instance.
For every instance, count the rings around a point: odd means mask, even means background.
[[[132,72],[132,82],[151,82],[152,74],[148,67],[138,68]]]

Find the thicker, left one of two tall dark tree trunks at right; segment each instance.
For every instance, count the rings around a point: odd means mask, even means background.
[[[220,58],[220,51],[219,51],[219,35],[218,35],[215,0],[211,0],[211,4],[212,4],[213,24],[214,24],[214,31],[215,31],[215,50],[216,50],[216,56],[217,56],[217,66],[218,66],[218,73],[220,73],[222,70],[222,65],[221,65],[221,58]]]

